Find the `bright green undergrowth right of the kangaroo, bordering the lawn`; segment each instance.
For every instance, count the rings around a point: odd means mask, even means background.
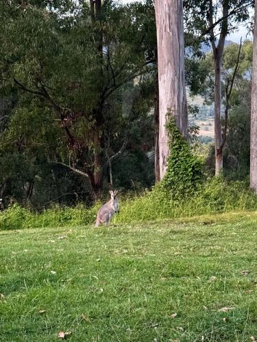
[[[257,210],[257,195],[249,189],[247,182],[229,182],[219,176],[199,185],[190,197],[172,198],[153,189],[134,200],[125,200],[114,222],[182,218],[236,210]]]

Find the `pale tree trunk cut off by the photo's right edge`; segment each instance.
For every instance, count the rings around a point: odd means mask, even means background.
[[[254,18],[252,111],[251,111],[251,153],[250,187],[257,192],[257,13]]]

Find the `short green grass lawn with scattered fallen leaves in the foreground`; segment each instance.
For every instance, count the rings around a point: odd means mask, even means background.
[[[0,244],[0,341],[257,339],[257,213],[1,231]]]

